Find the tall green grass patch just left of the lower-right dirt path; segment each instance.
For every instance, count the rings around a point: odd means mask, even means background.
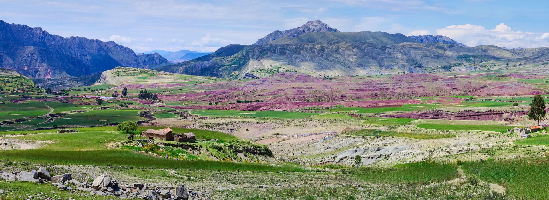
[[[357,168],[356,179],[379,184],[429,184],[460,177],[456,165],[418,162],[395,165],[393,168]]]

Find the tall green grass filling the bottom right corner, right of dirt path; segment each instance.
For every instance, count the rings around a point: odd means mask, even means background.
[[[502,185],[514,199],[549,198],[549,160],[545,158],[464,162],[462,169],[468,175],[478,173],[481,180]]]

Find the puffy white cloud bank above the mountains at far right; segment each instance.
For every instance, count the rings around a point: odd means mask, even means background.
[[[470,47],[486,44],[507,48],[549,46],[549,33],[512,31],[503,23],[494,29],[472,24],[451,25],[437,29],[436,35],[450,37]]]

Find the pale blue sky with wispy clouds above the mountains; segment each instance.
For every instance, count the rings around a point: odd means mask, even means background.
[[[42,27],[63,37],[114,41],[135,52],[213,52],[253,44],[275,30],[321,20],[342,32],[444,35],[471,47],[549,46],[549,1],[13,1],[0,20]]]

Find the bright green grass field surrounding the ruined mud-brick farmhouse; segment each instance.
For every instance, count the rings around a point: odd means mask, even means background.
[[[0,159],[9,158],[17,162],[33,162],[48,164],[98,164],[98,165],[131,165],[135,167],[157,167],[157,168],[192,168],[211,169],[223,171],[253,170],[253,171],[296,171],[302,172],[303,168],[295,165],[283,165],[281,167],[261,165],[253,163],[234,163],[219,161],[177,161],[143,155],[130,150],[105,149],[105,145],[114,141],[126,140],[127,134],[113,131],[116,127],[80,128],[80,133],[55,133],[55,134],[32,134],[35,131],[18,132],[29,135],[18,136],[17,139],[27,140],[51,140],[54,144],[31,150],[0,151]],[[144,130],[150,127],[140,127]],[[159,127],[154,127],[158,129]],[[161,128],[161,127],[160,127]],[[193,132],[197,139],[222,140],[237,139],[235,136],[198,129],[173,128],[176,133]],[[52,130],[49,130],[52,132]],[[45,130],[41,133],[48,133]]]

